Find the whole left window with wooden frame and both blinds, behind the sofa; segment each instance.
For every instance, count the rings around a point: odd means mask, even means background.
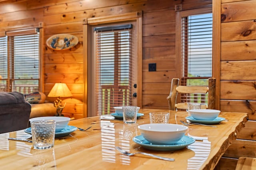
[[[35,29],[0,37],[0,92],[39,90],[39,34]]]

